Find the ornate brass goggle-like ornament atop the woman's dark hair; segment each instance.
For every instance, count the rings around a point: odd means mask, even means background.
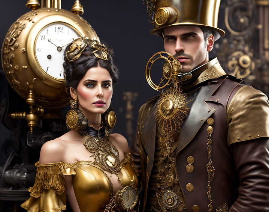
[[[65,52],[66,59],[68,61],[77,60],[87,46],[91,46],[92,48],[96,49],[92,52],[95,57],[102,60],[107,60],[107,48],[104,45],[99,44],[97,40],[91,40],[88,37],[80,37],[73,40],[69,51]]]

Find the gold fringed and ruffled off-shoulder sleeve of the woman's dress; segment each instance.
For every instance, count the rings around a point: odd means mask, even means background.
[[[30,198],[21,204],[28,212],[60,212],[66,209],[64,175],[76,174],[65,162],[35,163],[37,173],[35,184],[28,189]]]

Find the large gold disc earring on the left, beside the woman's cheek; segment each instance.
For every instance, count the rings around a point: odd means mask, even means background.
[[[65,117],[66,125],[70,129],[79,130],[81,134],[88,127],[88,120],[85,118],[82,110],[78,108],[77,100],[70,100],[71,110],[68,111]]]

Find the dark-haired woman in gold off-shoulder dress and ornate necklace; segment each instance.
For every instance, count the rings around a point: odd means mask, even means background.
[[[78,38],[66,48],[63,66],[71,95],[72,110],[66,117],[71,130],[42,146],[31,198],[21,206],[61,211],[67,197],[74,212],[132,208],[138,179],[128,143],[107,131],[114,124],[113,112],[107,114],[119,79],[112,51],[98,41]]]

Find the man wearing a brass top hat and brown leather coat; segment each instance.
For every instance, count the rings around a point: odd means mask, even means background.
[[[152,33],[189,77],[178,77],[177,96],[188,113],[174,126],[158,117],[165,92],[139,111],[130,150],[141,172],[142,212],[269,211],[268,98],[208,58],[214,40],[225,35],[217,28],[219,3],[144,0]]]

